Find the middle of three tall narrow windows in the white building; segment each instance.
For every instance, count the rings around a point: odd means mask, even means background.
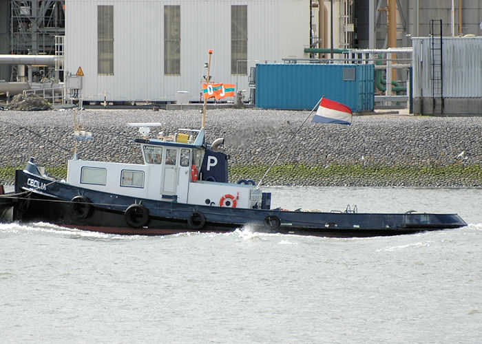
[[[180,75],[180,6],[164,6],[164,74]]]

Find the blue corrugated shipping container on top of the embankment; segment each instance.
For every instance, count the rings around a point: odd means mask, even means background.
[[[255,106],[311,110],[324,96],[354,112],[373,111],[374,71],[374,65],[258,64]]]

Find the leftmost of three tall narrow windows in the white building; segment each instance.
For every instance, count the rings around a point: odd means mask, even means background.
[[[114,75],[114,6],[97,6],[97,74]]]

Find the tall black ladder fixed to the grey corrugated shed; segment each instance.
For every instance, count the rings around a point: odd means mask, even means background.
[[[430,19],[430,81],[432,111],[435,114],[437,103],[440,103],[440,113],[443,114],[442,19]]]

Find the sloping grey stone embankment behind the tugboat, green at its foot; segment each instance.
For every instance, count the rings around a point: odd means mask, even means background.
[[[231,181],[256,181],[282,151],[308,111],[208,111],[207,140],[224,136]],[[93,140],[78,142],[84,160],[141,162],[137,128],[162,122],[165,134],[200,127],[198,110],[85,110],[76,114]],[[64,176],[74,149],[74,111],[0,111],[0,184],[30,156]],[[353,125],[309,120],[263,184],[334,186],[482,186],[482,116],[355,116]]]

